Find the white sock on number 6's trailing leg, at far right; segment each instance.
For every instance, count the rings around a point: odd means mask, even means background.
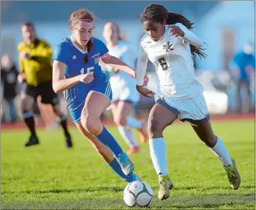
[[[217,143],[214,147],[209,147],[211,151],[221,160],[224,167],[229,167],[232,165],[232,160],[230,158],[230,155],[228,154],[228,151],[226,147],[223,145],[223,142],[221,138],[217,137]]]

